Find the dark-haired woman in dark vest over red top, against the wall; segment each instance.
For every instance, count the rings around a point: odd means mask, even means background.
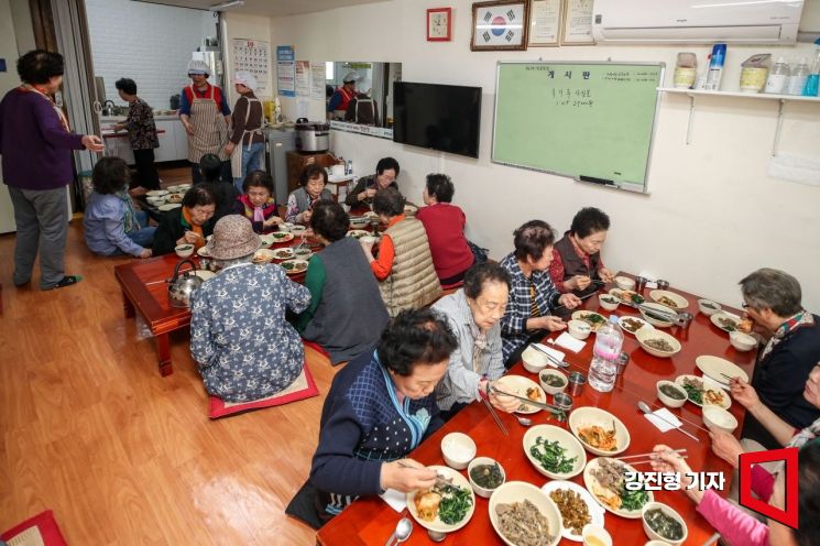
[[[614,280],[601,259],[609,229],[610,217],[594,207],[582,208],[572,218],[569,231],[553,248],[549,265],[549,276],[559,292],[583,296]]]

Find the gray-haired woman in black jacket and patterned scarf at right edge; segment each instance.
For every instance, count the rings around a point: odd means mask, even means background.
[[[820,417],[820,410],[802,395],[811,369],[820,361],[820,317],[802,308],[800,283],[784,271],[764,267],[740,285],[746,318],[767,338],[752,386],[778,417],[805,428]],[[742,436],[768,449],[780,447],[752,415],[746,416]]]

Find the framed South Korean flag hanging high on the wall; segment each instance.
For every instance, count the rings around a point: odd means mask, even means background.
[[[526,50],[529,1],[473,3],[470,50]]]

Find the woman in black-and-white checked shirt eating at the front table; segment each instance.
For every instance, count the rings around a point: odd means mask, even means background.
[[[575,294],[561,294],[547,270],[553,261],[555,233],[542,220],[531,220],[516,229],[515,251],[501,261],[512,280],[510,304],[501,319],[504,365],[521,360],[527,343],[539,341],[546,331],[562,330],[567,324],[551,313],[562,306],[573,309],[581,304]]]

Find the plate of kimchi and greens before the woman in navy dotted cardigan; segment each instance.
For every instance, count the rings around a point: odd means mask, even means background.
[[[475,494],[467,478],[449,467],[427,467],[438,473],[429,490],[407,493],[407,511],[423,527],[439,533],[458,531],[475,511]]]

